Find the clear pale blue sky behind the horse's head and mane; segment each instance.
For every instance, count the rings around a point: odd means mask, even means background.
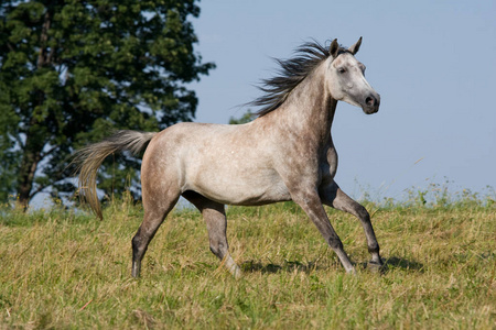
[[[359,198],[411,187],[496,187],[496,1],[204,0],[196,51],[217,68],[192,85],[196,121],[227,123],[255,85],[301,43],[364,37],[357,58],[381,95],[378,113],[339,102],[336,182]],[[419,162],[419,160],[421,160]]]

